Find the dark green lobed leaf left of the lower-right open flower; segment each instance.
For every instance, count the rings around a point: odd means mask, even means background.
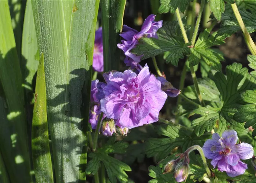
[[[204,140],[209,138],[208,134],[204,134],[198,138],[189,129],[183,129],[180,126],[167,124],[161,124],[157,126],[156,131],[159,135],[165,136],[165,138],[149,138],[145,142],[145,151],[148,157],[156,156],[157,161],[166,158],[176,147],[180,147],[181,151],[184,152],[190,146],[202,146]]]

